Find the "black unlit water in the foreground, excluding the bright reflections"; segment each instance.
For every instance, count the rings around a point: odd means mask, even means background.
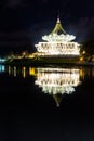
[[[0,74],[0,141],[94,141],[94,78],[89,76],[61,106],[33,77]]]

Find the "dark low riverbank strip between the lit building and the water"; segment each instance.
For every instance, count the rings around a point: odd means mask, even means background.
[[[13,59],[3,62],[12,66],[44,66],[44,65],[77,65],[94,66],[94,62],[80,61],[79,57],[36,57],[36,59]]]

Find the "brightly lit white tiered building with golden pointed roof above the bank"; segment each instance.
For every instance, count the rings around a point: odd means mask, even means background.
[[[75,42],[73,35],[67,34],[62,27],[59,17],[57,18],[56,25],[50,35],[42,37],[42,42],[36,44],[39,55],[68,55],[79,56],[80,44]]]

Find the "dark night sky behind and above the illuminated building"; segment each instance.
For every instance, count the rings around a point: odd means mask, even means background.
[[[0,54],[33,51],[53,29],[58,10],[64,29],[78,42],[94,37],[94,0],[1,0]]]

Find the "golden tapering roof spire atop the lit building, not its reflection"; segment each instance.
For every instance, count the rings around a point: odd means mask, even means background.
[[[57,34],[57,35],[61,35],[61,34],[64,34],[66,35],[67,33],[64,30],[62,24],[61,24],[61,20],[59,17],[57,17],[57,22],[56,22],[56,25],[53,29],[53,31],[51,34]]]

